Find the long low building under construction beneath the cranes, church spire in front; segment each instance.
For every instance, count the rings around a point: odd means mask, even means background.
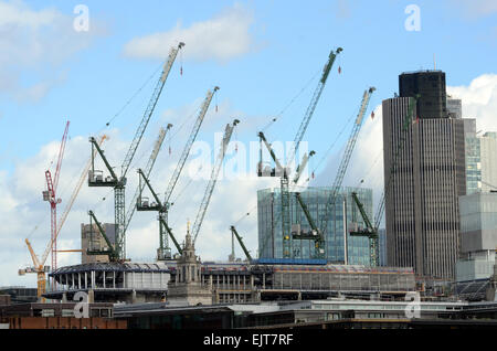
[[[59,268],[46,298],[89,302],[180,301],[188,305],[302,300],[337,296],[404,298],[415,290],[411,268],[327,265],[319,259],[258,259],[201,263],[190,233],[176,262],[95,263]]]

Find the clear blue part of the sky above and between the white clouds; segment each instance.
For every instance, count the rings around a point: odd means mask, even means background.
[[[78,3],[81,1],[24,2],[33,11],[53,8],[72,18],[76,17],[73,9]],[[2,169],[12,170],[18,158],[29,157],[47,141],[60,139],[66,119],[72,121],[71,135],[85,136],[99,130],[109,116],[120,109],[160,63],[159,59],[125,56],[127,42],[169,31],[178,22],[189,28],[235,4],[251,18],[252,43],[247,52],[226,62],[186,60],[184,75],[168,82],[167,97],[161,99],[160,108],[183,106],[203,96],[209,86],[219,85],[222,88],[219,99],[229,99],[246,115],[274,115],[321,68],[329,50],[342,46],[345,50],[337,61],[342,74],[338,76],[334,70],[307,135],[315,148],[322,150],[327,139],[334,136],[334,127],[341,127],[346,116],[357,108],[366,87],[377,87],[372,104],[379,103],[396,91],[399,73],[432,68],[434,54],[437,66],[447,73],[447,85],[468,84],[495,67],[495,14],[472,17],[464,1],[416,2],[421,10],[419,32],[404,29],[409,15],[404,9],[412,1],[374,4],[369,1],[84,3],[89,9],[91,24],[101,26],[102,31],[91,39],[87,47],[70,54],[62,63],[41,60],[29,66],[12,64],[13,68],[22,71],[24,86],[60,74],[64,78],[36,102],[20,103],[8,94],[0,95]],[[73,40],[80,40],[78,35],[74,34]],[[308,96],[314,86],[315,83],[307,89]],[[144,93],[141,98],[146,100],[147,95]],[[293,116],[285,116],[294,128],[285,128],[287,135],[282,135],[276,125],[269,132],[272,137],[293,140],[306,104],[308,98],[303,95],[290,110]],[[324,130],[318,126],[324,121],[329,123],[330,128],[320,134]],[[116,127],[125,123],[117,120]],[[129,129],[128,137],[134,131]]]

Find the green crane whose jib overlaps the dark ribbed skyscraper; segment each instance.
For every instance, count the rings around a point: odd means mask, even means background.
[[[359,212],[361,213],[362,220],[364,221],[366,224],[366,228],[362,230],[358,230],[358,231],[351,231],[350,235],[351,236],[366,236],[369,240],[369,254],[370,254],[370,263],[371,266],[378,266],[379,264],[379,236],[378,236],[378,230],[380,227],[380,223],[381,223],[381,219],[383,215],[383,210],[384,210],[384,201],[385,201],[385,196],[389,194],[390,192],[390,184],[392,181],[392,174],[395,172],[396,169],[396,163],[399,160],[399,153],[400,151],[402,151],[404,143],[405,143],[405,138],[406,138],[406,131],[409,129],[409,127],[412,124],[412,118],[413,118],[413,113],[414,113],[414,106],[416,106],[417,99],[420,98],[420,95],[415,95],[414,97],[410,97],[410,102],[409,102],[409,107],[408,107],[408,115],[405,117],[404,124],[402,126],[402,130],[401,130],[401,135],[400,135],[400,140],[399,140],[399,146],[396,148],[395,155],[393,157],[393,162],[392,166],[390,168],[390,172],[389,172],[389,178],[387,179],[385,182],[385,191],[383,192],[380,203],[378,205],[378,210],[377,213],[374,215],[374,223],[372,224],[371,221],[369,220],[364,208],[362,205],[362,203],[359,201],[357,193],[352,193],[352,199],[356,203],[356,205],[359,209]]]

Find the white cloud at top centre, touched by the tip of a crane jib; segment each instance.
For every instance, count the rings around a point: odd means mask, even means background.
[[[250,11],[235,4],[216,17],[183,28],[181,22],[167,31],[133,39],[124,49],[130,57],[163,59],[171,45],[184,42],[183,55],[195,61],[226,62],[251,51],[253,39]]]

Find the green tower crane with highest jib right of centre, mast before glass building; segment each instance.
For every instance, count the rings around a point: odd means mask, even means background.
[[[276,174],[276,171],[273,171],[269,173],[266,171],[263,171],[262,151],[261,151],[261,160],[260,160],[258,168],[257,168],[258,177],[281,177],[279,180],[281,180],[281,191],[282,191],[282,193],[281,193],[281,196],[282,196],[282,234],[283,234],[283,257],[284,258],[292,257],[292,240],[290,240],[292,231],[290,231],[290,217],[289,217],[290,202],[289,202],[289,189],[288,189],[289,167],[292,166],[292,162],[294,161],[298,146],[299,146],[302,139],[304,138],[304,135],[309,125],[310,118],[314,115],[317,103],[319,102],[322,89],[325,88],[325,85],[326,85],[326,81],[329,76],[329,72],[334,65],[335,59],[336,59],[337,54],[339,54],[341,51],[342,51],[341,47],[338,47],[336,52],[334,52],[331,50],[331,52],[328,56],[328,61],[325,64],[325,67],[322,68],[321,78],[319,79],[318,86],[316,87],[313,98],[310,100],[310,104],[306,110],[306,114],[304,115],[304,119],[300,124],[297,135],[295,136],[292,151],[289,153],[289,158],[288,158],[288,162],[287,162],[287,168],[283,168],[279,163],[276,163],[278,174]],[[260,132],[258,137],[261,138],[262,142],[265,143],[266,148],[268,148],[273,160],[276,162],[276,157],[275,157],[274,152],[271,151],[271,145],[265,139],[264,134]]]

